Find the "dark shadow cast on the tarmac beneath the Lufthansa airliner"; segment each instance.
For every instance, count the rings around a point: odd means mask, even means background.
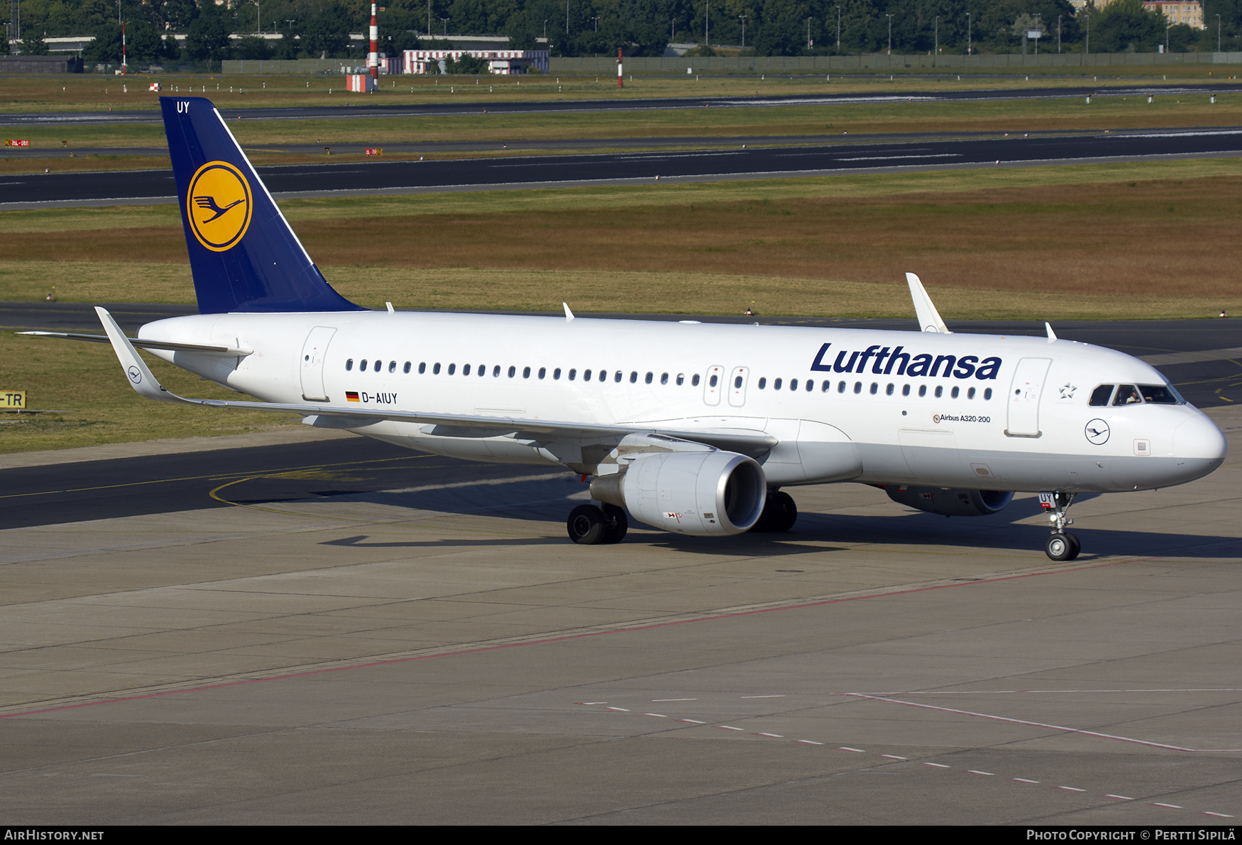
[[[338,491],[323,491],[338,493]],[[499,479],[486,486],[414,491],[347,493],[338,501],[370,503],[389,507],[409,509],[432,515],[483,515],[530,522],[560,521],[574,504],[585,500],[582,485],[564,475],[548,480]],[[796,495],[796,490],[794,490]],[[1079,503],[1095,498],[1081,495]],[[1043,525],[1022,525],[1021,520],[1038,517],[1041,510],[1035,498],[1020,499],[992,516],[944,517],[910,511],[892,505],[892,514],[816,514],[804,512],[792,530],[781,534],[743,534],[733,537],[686,537],[646,525],[630,524],[625,542],[648,543],[687,553],[784,556],[807,552],[845,551],[859,543],[884,546],[958,547],[979,551],[1042,551],[1048,536]],[[1094,529],[1090,519],[1081,519],[1074,531],[1083,540],[1079,560],[1112,556],[1221,558],[1242,555],[1242,540],[1212,535],[1118,531]],[[356,535],[327,540],[322,545],[358,548],[469,548],[491,546],[538,546],[566,543],[554,537],[488,537],[394,541],[369,540]]]

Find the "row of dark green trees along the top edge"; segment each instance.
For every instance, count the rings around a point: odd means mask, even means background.
[[[6,4],[7,5],[7,4]],[[553,56],[660,56],[669,42],[699,55],[805,56],[886,52],[940,55],[1172,52],[1242,50],[1242,0],[1205,0],[1206,30],[1167,26],[1141,0],[1077,11],[1068,0],[386,0],[380,50],[397,55],[426,35],[509,36],[513,48],[546,37]],[[361,58],[370,4],[360,0],[120,0],[130,63],[222,58]],[[1217,26],[1218,22],[1218,26]],[[24,52],[46,52],[43,37],[93,34],[88,63],[120,55],[118,5],[109,0],[22,0]],[[276,41],[255,37],[279,34]],[[175,40],[173,34],[185,35]],[[243,37],[240,42],[230,35]],[[1023,45],[1023,41],[1027,41]],[[430,42],[427,46],[438,46]]]

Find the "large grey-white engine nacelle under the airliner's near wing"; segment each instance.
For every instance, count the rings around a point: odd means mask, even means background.
[[[768,483],[753,458],[735,452],[652,452],[620,475],[596,478],[591,495],[657,529],[719,537],[755,524]]]

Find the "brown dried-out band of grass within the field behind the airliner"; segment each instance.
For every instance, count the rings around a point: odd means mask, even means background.
[[[913,269],[939,288],[1222,303],[1237,289],[1228,244],[1242,213],[1242,175],[840,199],[766,199],[761,187],[748,190],[738,201],[723,192],[707,202],[666,195],[660,203],[606,210],[342,215],[302,220],[297,228],[327,268],[861,283],[887,283]],[[183,237],[179,225],[130,228],[123,237],[113,230],[10,232],[0,269],[45,261],[47,270],[65,275],[53,269],[61,262],[183,264]],[[46,287],[48,273],[41,275]],[[674,293],[617,297],[605,310],[687,310],[667,299]],[[800,313],[796,299],[790,313]]]

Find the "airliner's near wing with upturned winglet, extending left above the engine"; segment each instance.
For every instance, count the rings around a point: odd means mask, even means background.
[[[337,428],[358,428],[383,419],[426,423],[428,434],[445,437],[499,437],[510,436],[518,439],[589,439],[599,437],[625,437],[636,432],[666,434],[684,440],[704,443],[729,452],[746,455],[765,454],[779,442],[766,432],[740,428],[715,429],[669,429],[642,423],[636,424],[594,424],[560,422],[555,419],[533,419],[513,417],[486,417],[482,414],[425,413],[419,411],[379,411],[369,408],[350,408],[340,406],[292,405],[284,402],[241,402],[232,400],[193,400],[178,396],[166,390],[148,369],[147,362],[134,350],[133,342],[125,338],[116,319],[106,309],[96,306],[96,313],[103,323],[112,349],[120,361],[129,385],[140,395],[158,402],[179,402],[199,405],[210,408],[247,408],[250,411],[277,411],[299,413],[307,417],[328,417]],[[161,346],[160,349],[166,349]],[[204,349],[204,347],[197,347]],[[227,354],[227,352],[221,352]]]

